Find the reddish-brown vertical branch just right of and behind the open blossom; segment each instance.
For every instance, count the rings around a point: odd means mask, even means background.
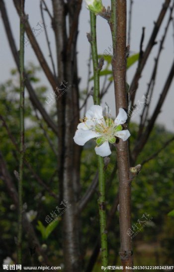
[[[127,109],[126,96],[126,0],[111,0],[111,21],[113,39],[112,71],[115,89],[116,112],[119,108]],[[113,20],[114,19],[114,20]],[[112,34],[113,37],[113,34]],[[114,44],[115,42],[115,44]],[[117,146],[117,163],[119,174],[119,221],[120,221],[120,257],[124,267],[132,267],[132,240],[127,234],[131,229],[131,187],[129,178],[129,149],[128,141],[121,139]]]

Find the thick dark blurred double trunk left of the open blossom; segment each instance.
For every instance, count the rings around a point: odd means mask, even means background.
[[[53,0],[53,27],[56,37],[58,82],[65,80],[70,88],[57,101],[59,183],[61,199],[71,207],[63,216],[63,248],[66,272],[82,271],[80,256],[80,223],[77,201],[80,192],[80,148],[75,146],[73,137],[79,118],[79,81],[77,77],[77,34],[78,19],[75,17],[79,1]],[[81,2],[81,1],[80,1]],[[81,7],[81,3],[80,3]],[[66,27],[66,16],[69,23]],[[73,17],[74,16],[74,17]],[[70,36],[68,38],[67,28]],[[72,29],[73,28],[73,29]],[[58,86],[59,87],[59,86]],[[73,105],[73,107],[72,107]]]

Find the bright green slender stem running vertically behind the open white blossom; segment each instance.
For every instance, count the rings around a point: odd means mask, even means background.
[[[100,104],[100,93],[99,93],[99,68],[98,68],[98,54],[96,44],[96,16],[90,12],[90,44],[91,54],[93,63],[93,76],[94,76],[94,93],[93,102],[95,105]],[[101,257],[102,265],[107,267],[108,256],[107,256],[107,231],[106,231],[106,211],[105,211],[105,177],[104,177],[104,162],[103,158],[97,156],[98,161],[98,182],[99,182],[99,221],[100,221],[100,235],[101,235]],[[105,270],[107,271],[107,270]]]

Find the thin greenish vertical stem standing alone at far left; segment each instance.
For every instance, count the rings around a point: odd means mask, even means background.
[[[20,0],[20,154],[18,178],[18,236],[17,236],[17,263],[22,264],[22,181],[24,161],[24,3]]]

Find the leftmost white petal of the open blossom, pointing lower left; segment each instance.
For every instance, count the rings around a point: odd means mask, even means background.
[[[92,130],[78,129],[73,139],[76,144],[84,146],[88,140],[98,136],[100,135]]]

